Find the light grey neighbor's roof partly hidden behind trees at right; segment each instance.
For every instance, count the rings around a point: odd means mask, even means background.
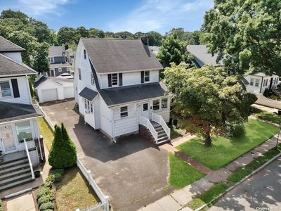
[[[216,58],[218,58],[218,53],[215,53],[214,56],[211,53],[208,53],[206,45],[188,45],[188,52],[202,61],[205,65],[222,65],[221,62],[216,63]]]

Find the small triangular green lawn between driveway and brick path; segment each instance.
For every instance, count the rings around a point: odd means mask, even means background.
[[[205,176],[173,153],[169,153],[169,165],[169,183],[175,188],[182,188]]]

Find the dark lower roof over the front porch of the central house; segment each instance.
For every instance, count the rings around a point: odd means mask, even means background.
[[[126,87],[100,89],[100,95],[107,106],[117,106],[122,103],[142,101],[150,98],[165,96],[166,86],[162,82],[138,84]]]

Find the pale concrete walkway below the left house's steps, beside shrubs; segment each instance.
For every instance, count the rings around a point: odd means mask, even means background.
[[[36,211],[32,192],[23,193],[7,200],[8,211]]]

